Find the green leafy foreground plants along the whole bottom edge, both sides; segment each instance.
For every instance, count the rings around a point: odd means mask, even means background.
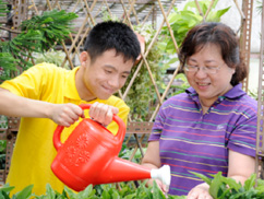
[[[252,174],[242,186],[235,179],[225,177],[221,172],[211,175],[212,178],[191,172],[196,177],[203,179],[209,185],[209,194],[214,199],[263,199],[264,196],[264,180],[257,179],[256,175]],[[33,185],[25,187],[23,190],[13,195],[12,199],[185,199],[185,196],[165,196],[161,190],[154,183],[153,187],[146,187],[145,182],[137,183],[135,186],[133,182],[96,185],[86,187],[83,191],[75,192],[68,187],[64,187],[62,192],[58,192],[51,188],[49,184],[46,186],[46,194],[36,196],[32,194]],[[9,184],[0,188],[0,198],[10,199],[10,191],[14,187]]]

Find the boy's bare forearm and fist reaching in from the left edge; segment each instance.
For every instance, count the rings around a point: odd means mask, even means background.
[[[61,126],[70,126],[83,110],[74,104],[51,104],[47,102],[17,96],[0,87],[0,115],[12,117],[49,118]]]

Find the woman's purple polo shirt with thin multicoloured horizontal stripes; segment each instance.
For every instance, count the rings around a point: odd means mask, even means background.
[[[204,115],[192,87],[167,99],[148,141],[159,140],[161,164],[171,167],[169,194],[187,195],[203,183],[190,171],[226,176],[228,149],[255,156],[256,112],[256,101],[241,84],[219,96]]]

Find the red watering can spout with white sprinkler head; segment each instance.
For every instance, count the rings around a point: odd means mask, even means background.
[[[106,177],[107,176],[107,177]],[[164,165],[160,168],[148,168],[136,163],[115,157],[113,161],[106,166],[101,175],[97,178],[97,184],[108,184],[117,182],[129,182],[140,179],[159,179],[164,185],[170,185],[170,167]]]

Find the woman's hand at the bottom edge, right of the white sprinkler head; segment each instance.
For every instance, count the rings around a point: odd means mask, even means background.
[[[208,190],[209,186],[206,183],[200,184],[190,190],[187,199],[213,199]]]

